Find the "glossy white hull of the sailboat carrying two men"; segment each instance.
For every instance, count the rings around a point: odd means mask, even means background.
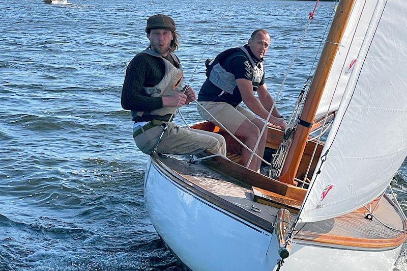
[[[274,234],[199,198],[149,160],[144,198],[151,222],[168,247],[192,270],[275,270]],[[294,239],[281,270],[391,270],[401,246],[361,251]]]

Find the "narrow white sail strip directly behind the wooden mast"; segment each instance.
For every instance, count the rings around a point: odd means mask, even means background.
[[[359,51],[376,4],[377,0],[356,1],[352,8],[321,101],[319,101],[315,119],[324,116],[327,112],[338,110],[350,74],[358,61]]]

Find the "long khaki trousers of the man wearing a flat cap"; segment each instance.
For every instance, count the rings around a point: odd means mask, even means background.
[[[153,152],[161,136],[164,124],[163,122],[161,125],[143,131],[134,138],[134,142],[140,151],[146,154]],[[181,128],[172,122],[168,123],[168,127],[157,148],[158,153],[165,154],[198,154],[203,151],[226,155],[225,139],[217,133]]]

